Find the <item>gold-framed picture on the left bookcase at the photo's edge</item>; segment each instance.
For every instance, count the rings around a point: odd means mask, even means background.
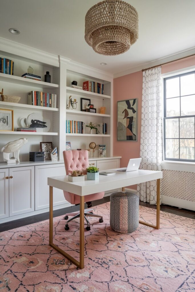
[[[13,131],[13,109],[0,109],[0,131]]]

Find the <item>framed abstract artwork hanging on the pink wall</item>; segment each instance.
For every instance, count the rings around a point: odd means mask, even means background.
[[[137,103],[137,98],[118,101],[118,141],[137,141]]]

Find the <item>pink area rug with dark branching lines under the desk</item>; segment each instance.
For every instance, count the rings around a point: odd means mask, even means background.
[[[85,267],[79,270],[49,246],[49,221],[0,233],[0,292],[189,292],[195,291],[195,220],[161,212],[161,229],[144,225],[131,234],[109,225],[110,204],[96,207],[85,231]],[[141,220],[156,211],[140,207]],[[64,230],[54,219],[55,241],[77,259],[77,222]]]

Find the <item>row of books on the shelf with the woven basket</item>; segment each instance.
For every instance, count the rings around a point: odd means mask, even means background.
[[[56,107],[56,94],[42,91],[29,91],[28,104],[41,107]]]

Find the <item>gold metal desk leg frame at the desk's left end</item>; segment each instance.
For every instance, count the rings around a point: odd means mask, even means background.
[[[68,253],[59,248],[53,243],[53,187],[49,186],[49,245],[56,251],[61,253],[65,258],[68,258],[74,265],[80,269],[84,268],[84,196],[81,197],[80,211],[82,211],[83,220],[80,218],[80,262],[70,256]],[[81,236],[82,235],[82,236]]]

